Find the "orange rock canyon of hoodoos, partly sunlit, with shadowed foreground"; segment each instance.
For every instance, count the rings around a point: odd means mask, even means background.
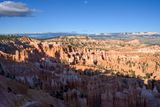
[[[160,106],[159,46],[88,37],[0,44],[0,107]]]

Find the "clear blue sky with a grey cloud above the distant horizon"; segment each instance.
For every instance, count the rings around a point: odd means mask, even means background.
[[[0,0],[0,33],[160,32],[160,0]]]

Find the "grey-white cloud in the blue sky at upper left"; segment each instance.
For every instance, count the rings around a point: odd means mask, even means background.
[[[35,11],[35,9],[29,8],[24,3],[14,1],[0,2],[0,17],[26,17]]]

